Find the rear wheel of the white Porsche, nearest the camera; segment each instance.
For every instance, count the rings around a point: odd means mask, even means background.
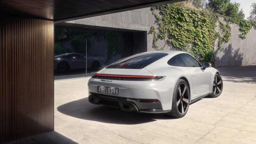
[[[184,89],[185,89],[185,92],[184,92]],[[176,118],[184,117],[188,112],[189,102],[190,102],[190,93],[189,93],[188,84],[185,80],[179,79],[174,87],[174,91],[172,95],[172,110],[165,114],[167,116],[172,116]]]

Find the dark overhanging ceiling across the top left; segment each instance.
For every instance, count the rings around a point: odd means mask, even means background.
[[[64,22],[179,1],[183,0],[0,0],[0,13]]]

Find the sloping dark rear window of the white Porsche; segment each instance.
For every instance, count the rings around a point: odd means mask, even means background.
[[[140,53],[121,59],[106,68],[141,69],[167,55],[166,53]]]

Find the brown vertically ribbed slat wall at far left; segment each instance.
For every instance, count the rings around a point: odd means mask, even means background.
[[[53,21],[0,24],[0,143],[53,131]]]

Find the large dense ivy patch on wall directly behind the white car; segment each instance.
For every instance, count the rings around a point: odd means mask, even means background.
[[[162,17],[154,14],[159,33],[154,33],[155,28],[151,28],[150,31],[154,34],[153,45],[156,49],[158,49],[156,41],[159,38],[167,39],[167,42],[171,42],[174,47],[190,52],[195,57],[200,56],[201,61],[211,61],[213,44],[216,39],[217,16],[171,4],[156,6],[152,10],[154,9],[162,13]],[[188,46],[190,43],[192,43],[192,48]]]

